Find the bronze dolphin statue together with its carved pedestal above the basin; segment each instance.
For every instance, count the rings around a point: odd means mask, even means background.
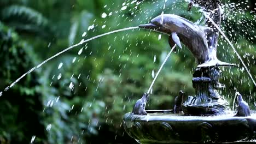
[[[177,15],[163,14],[139,27],[170,35],[168,42],[171,47],[176,44],[182,48],[181,43],[183,43],[197,59],[199,65],[192,80],[196,95],[184,101],[184,113],[186,115],[224,114],[229,110],[229,103],[217,90],[225,87],[219,83],[221,71],[218,66],[235,64],[225,63],[217,58],[219,31],[214,24],[220,26],[222,8],[218,0],[190,0],[188,10],[193,7],[193,4],[199,5],[203,11],[210,14],[206,18],[206,26],[197,26]]]

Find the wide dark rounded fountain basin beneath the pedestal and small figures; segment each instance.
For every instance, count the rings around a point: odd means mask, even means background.
[[[256,114],[249,117],[184,116],[172,110],[126,113],[123,125],[139,143],[256,143]]]

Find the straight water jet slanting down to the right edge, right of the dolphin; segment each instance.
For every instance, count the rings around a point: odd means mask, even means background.
[[[222,29],[220,29],[220,28],[218,27],[218,25],[212,20],[212,18],[211,18],[210,16],[208,16],[206,13],[203,13],[203,14],[204,14],[204,15],[207,17],[207,19],[209,19],[209,20],[213,23],[213,25],[219,30],[219,32],[223,35],[223,37],[226,39],[226,41],[228,41],[229,45],[232,47],[232,49],[233,49],[234,52],[236,53],[236,56],[238,57],[238,59],[239,59],[239,60],[241,61],[241,63],[243,64],[243,67],[246,69],[248,75],[250,76],[251,80],[253,81],[254,86],[256,87],[256,82],[254,81],[252,74],[250,73],[249,69],[246,67],[245,62],[243,62],[243,59],[241,58],[241,56],[239,55],[239,53],[236,51],[234,45],[231,43],[231,41],[229,40],[229,38],[226,37],[226,35],[225,35],[224,32],[222,31]]]

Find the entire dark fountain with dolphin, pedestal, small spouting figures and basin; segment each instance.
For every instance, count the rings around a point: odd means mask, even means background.
[[[222,10],[219,1],[192,0],[203,10],[211,11],[210,17],[220,26]],[[234,66],[218,60],[218,29],[206,20],[206,27],[195,25],[176,15],[160,15],[141,28],[170,35],[170,46],[182,47],[183,43],[197,59],[193,74],[196,95],[183,103],[183,93],[175,99],[174,110],[144,110],[148,94],[137,101],[132,112],[123,119],[124,128],[139,143],[248,143],[256,140],[256,118],[251,116],[248,104],[238,98],[238,112],[234,116],[228,101],[218,89],[222,71],[219,67]],[[180,112],[182,111],[182,113]]]

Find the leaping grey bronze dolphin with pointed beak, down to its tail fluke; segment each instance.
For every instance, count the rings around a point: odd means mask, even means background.
[[[168,42],[171,47],[177,44],[182,48],[181,42],[188,47],[197,59],[197,67],[212,67],[217,65],[234,65],[221,62],[216,57],[217,49],[209,49],[207,35],[213,35],[211,27],[197,26],[181,16],[163,14],[155,17],[141,28],[153,29],[170,35]]]

